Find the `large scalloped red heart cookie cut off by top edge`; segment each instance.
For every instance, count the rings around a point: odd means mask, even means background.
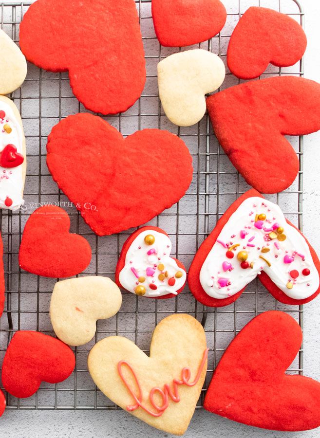
[[[75,97],[94,112],[128,110],[146,81],[134,0],[38,0],[20,24],[28,61],[69,71]]]

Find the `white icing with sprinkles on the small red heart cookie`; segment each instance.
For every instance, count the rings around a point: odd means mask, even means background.
[[[145,243],[145,237],[149,235],[154,237],[154,243],[151,245]],[[170,257],[170,252],[171,241],[168,236],[155,230],[141,232],[130,245],[126,254],[125,266],[120,271],[119,281],[122,287],[136,293],[136,288],[142,286],[145,288],[145,293],[141,294],[148,297],[162,296],[168,293],[176,295],[176,291],[185,284],[187,274]],[[163,269],[159,269],[160,265],[163,265]],[[179,273],[178,277],[177,273]],[[160,274],[162,275],[159,279]],[[144,281],[142,281],[142,277]],[[161,279],[162,277],[164,279]]]

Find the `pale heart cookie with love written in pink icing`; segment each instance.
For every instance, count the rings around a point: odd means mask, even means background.
[[[205,381],[207,350],[202,325],[173,314],[154,329],[150,357],[129,339],[110,336],[92,348],[88,367],[114,403],[157,429],[182,435]]]

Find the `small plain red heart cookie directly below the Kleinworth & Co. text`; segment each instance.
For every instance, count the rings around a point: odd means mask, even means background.
[[[19,249],[19,266],[43,277],[72,277],[91,261],[87,240],[70,234],[70,218],[62,208],[45,205],[25,224]]]

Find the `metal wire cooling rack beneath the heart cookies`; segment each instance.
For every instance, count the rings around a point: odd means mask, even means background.
[[[226,208],[249,187],[230,164],[215,138],[206,115],[190,128],[172,125],[159,102],[156,66],[164,57],[183,49],[161,47],[155,37],[151,0],[135,0],[141,23],[146,52],[147,82],[139,101],[128,111],[104,117],[124,136],[137,129],[161,128],[178,134],[187,144],[193,158],[193,180],[186,196],[149,224],[167,231],[172,240],[172,255],[188,268],[201,242],[213,229]],[[1,27],[16,42],[19,41],[19,22],[31,2],[0,3]],[[226,48],[230,34],[249,6],[267,6],[289,14],[303,26],[303,12],[296,0],[224,0],[228,16],[221,34],[192,46],[219,54],[226,64]],[[303,60],[297,65],[278,69],[269,66],[263,77],[283,74],[303,75]],[[240,83],[228,72],[221,89]],[[13,333],[20,329],[38,330],[55,335],[49,318],[49,304],[55,279],[38,277],[19,269],[19,242],[29,215],[39,203],[61,202],[71,218],[71,232],[87,238],[92,247],[92,262],[81,275],[107,275],[114,279],[115,265],[125,239],[134,230],[119,235],[98,237],[84,223],[75,207],[59,191],[46,167],[46,137],[63,117],[83,106],[73,96],[68,73],[49,73],[28,65],[28,75],[21,89],[11,98],[18,106],[27,145],[27,177],[24,191],[25,206],[18,212],[1,210],[0,228],[4,244],[6,309],[0,320],[0,363]],[[281,194],[266,196],[277,202],[290,221],[302,229],[302,156],[303,139],[290,138],[300,159],[300,172],[295,183]],[[42,383],[38,392],[28,399],[7,394],[8,409],[116,409],[94,385],[87,368],[87,355],[94,343],[110,335],[126,336],[149,353],[151,334],[156,324],[171,313],[189,313],[202,321],[206,334],[208,355],[207,379],[198,402],[203,405],[204,394],[225,348],[240,329],[255,315],[265,310],[284,310],[302,326],[302,307],[278,303],[257,280],[252,282],[233,304],[220,308],[205,308],[196,302],[188,287],[175,298],[149,300],[130,292],[123,293],[123,304],[116,316],[98,321],[95,338],[88,344],[75,347],[74,373],[56,385]],[[302,348],[288,372],[302,373]]]

